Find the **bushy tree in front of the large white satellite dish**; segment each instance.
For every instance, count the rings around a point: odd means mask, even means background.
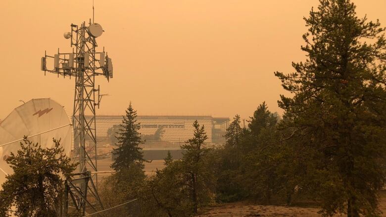
[[[64,180],[76,165],[63,154],[60,139],[53,139],[52,148],[42,148],[24,137],[17,154],[11,153],[6,162],[13,170],[7,175],[0,191],[0,216],[12,212],[18,217],[57,217],[56,208]]]

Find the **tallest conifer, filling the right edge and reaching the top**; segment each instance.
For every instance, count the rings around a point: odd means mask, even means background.
[[[385,184],[386,41],[380,23],[358,18],[350,0],[320,0],[304,18],[305,62],[275,75],[292,97],[281,96],[282,127],[307,156],[307,187],[324,216],[378,216]],[[311,157],[310,157],[311,156]]]

